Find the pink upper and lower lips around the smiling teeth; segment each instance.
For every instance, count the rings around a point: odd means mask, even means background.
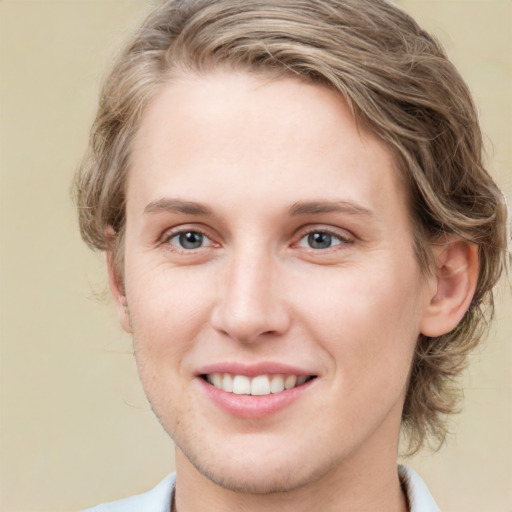
[[[207,397],[228,414],[245,419],[262,419],[277,414],[300,399],[318,380],[315,378],[300,386],[280,393],[271,393],[270,395],[237,395],[209,384],[202,378],[203,375],[209,373],[231,373],[233,375],[246,375],[247,377],[268,374],[315,375],[316,377],[318,375],[315,372],[308,372],[304,369],[276,362],[262,362],[251,365],[218,363],[202,367],[197,373],[196,380]]]

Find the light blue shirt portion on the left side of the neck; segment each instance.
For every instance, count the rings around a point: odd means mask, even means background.
[[[82,512],[169,512],[176,486],[174,473],[165,477],[156,487],[142,494],[136,494],[110,503],[103,503]]]

